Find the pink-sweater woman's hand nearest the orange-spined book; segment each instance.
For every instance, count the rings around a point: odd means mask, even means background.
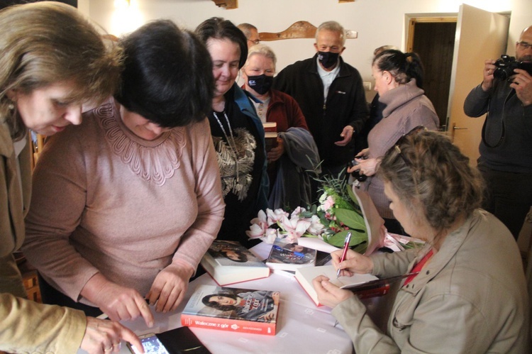
[[[171,264],[161,270],[153,281],[150,292],[146,295],[150,304],[155,304],[155,311],[168,312],[177,309],[187,292],[189,279],[194,274],[192,267]]]

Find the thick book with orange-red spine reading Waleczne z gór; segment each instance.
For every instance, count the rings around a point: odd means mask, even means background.
[[[275,336],[279,292],[199,285],[181,314],[183,326]]]

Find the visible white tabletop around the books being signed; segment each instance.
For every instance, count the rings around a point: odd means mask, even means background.
[[[251,250],[261,259],[266,259],[272,245],[260,243]],[[204,274],[189,284],[189,289],[177,311],[167,314],[155,313],[155,326],[148,328],[143,319],[124,322],[138,335],[162,333],[182,326],[181,314],[199,285],[216,285]],[[211,353],[352,353],[353,344],[348,335],[331,315],[326,306],[316,306],[301,288],[294,276],[272,272],[269,277],[239,282],[228,287],[239,289],[268,290],[280,293],[279,312],[275,336],[255,333],[228,332],[216,329],[193,328],[199,340]],[[121,353],[129,353],[125,345]]]

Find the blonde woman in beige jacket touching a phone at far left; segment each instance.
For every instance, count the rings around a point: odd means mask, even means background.
[[[30,199],[28,129],[53,135],[81,123],[85,101],[114,92],[117,52],[76,9],[56,2],[0,11],[0,32],[0,350],[103,353],[118,350],[121,338],[139,343],[119,323],[25,299],[12,256]]]

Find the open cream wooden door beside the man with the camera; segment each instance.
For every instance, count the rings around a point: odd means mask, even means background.
[[[450,80],[447,131],[462,153],[470,158],[471,165],[476,165],[480,156],[478,147],[485,116],[466,116],[465,97],[482,82],[484,60],[497,59],[504,54],[509,22],[508,17],[498,13],[460,5]]]

